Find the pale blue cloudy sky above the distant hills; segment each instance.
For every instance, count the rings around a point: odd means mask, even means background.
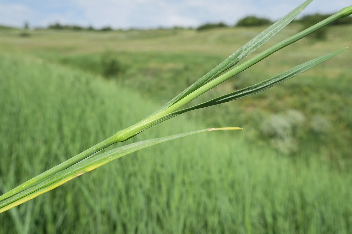
[[[247,15],[281,18],[303,0],[0,0],[0,24],[31,27],[54,22],[94,27],[149,28],[233,25]],[[302,14],[333,13],[351,0],[314,0]]]

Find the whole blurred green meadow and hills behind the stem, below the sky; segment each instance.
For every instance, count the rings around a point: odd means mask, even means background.
[[[290,24],[249,58],[301,28]],[[148,116],[264,29],[0,28],[0,194]],[[351,45],[351,25],[330,27],[326,40],[304,38],[197,102]],[[244,128],[124,156],[1,213],[0,234],[352,233],[351,64],[349,49],[118,143]]]

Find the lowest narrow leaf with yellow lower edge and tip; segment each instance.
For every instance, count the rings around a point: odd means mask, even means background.
[[[216,131],[216,130],[240,130],[243,128],[210,128],[210,129],[203,129],[198,131],[192,131],[188,133],[176,134],[167,137],[160,137],[156,139],[150,139],[145,141],[140,141],[132,144],[128,144],[119,148],[112,149],[102,154],[94,155],[93,157],[86,158],[86,160],[82,160],[75,165],[59,171],[58,173],[48,176],[45,179],[39,181],[36,184],[20,191],[14,196],[8,197],[5,200],[0,201],[0,213],[4,212],[5,210],[11,209],[12,207],[18,206],[21,203],[24,203],[34,197],[43,194],[51,189],[54,189],[61,184],[80,176],[88,171],[94,170],[95,168],[100,167],[112,160],[130,154],[134,151],[156,145],[162,142],[170,141],[173,139],[186,137],[202,132],[208,131]],[[11,194],[10,194],[11,195]]]

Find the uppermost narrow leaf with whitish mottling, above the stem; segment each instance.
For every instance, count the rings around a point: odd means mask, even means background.
[[[257,48],[262,46],[266,41],[268,41],[270,38],[272,38],[276,33],[278,33],[280,30],[282,30],[285,26],[287,26],[312,1],[313,0],[307,0],[307,1],[303,2],[300,6],[296,7],[293,11],[291,11],[290,13],[285,15],[282,19],[276,21],[274,24],[272,24],[266,30],[264,30],[263,32],[258,34],[256,37],[254,37],[252,40],[250,40],[244,46],[239,48],[237,51],[235,51],[233,54],[231,54],[227,59],[222,61],[218,66],[214,67],[214,69],[209,71],[202,78],[197,80],[194,84],[189,86],[186,90],[181,92],[174,99],[170,100],[170,102],[166,103],[164,106],[162,106],[160,109],[158,109],[153,114],[168,108],[168,106],[172,105],[173,103],[177,102],[178,100],[182,99],[183,97],[189,95],[191,92],[195,91],[196,89],[198,89],[202,85],[208,83],[210,80],[214,79],[216,76],[218,76],[222,72],[224,72],[227,69],[231,68],[232,66],[238,64],[240,61],[242,61],[247,56],[249,56],[251,53],[253,53],[255,50],[257,50]]]

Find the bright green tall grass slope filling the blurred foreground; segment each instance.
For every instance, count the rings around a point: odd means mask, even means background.
[[[146,116],[112,81],[0,57],[3,192]],[[128,142],[200,128],[180,117]],[[348,173],[208,134],[148,148],[0,214],[0,233],[349,233]],[[127,142],[127,143],[128,143]]]

